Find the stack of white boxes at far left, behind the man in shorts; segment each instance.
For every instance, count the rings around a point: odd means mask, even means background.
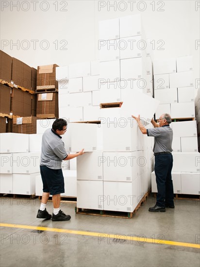
[[[39,159],[29,152],[29,134],[0,134],[0,193],[35,194]]]

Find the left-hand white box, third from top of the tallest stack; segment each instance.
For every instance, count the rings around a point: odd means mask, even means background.
[[[119,60],[100,62],[101,83],[114,82],[120,80]]]

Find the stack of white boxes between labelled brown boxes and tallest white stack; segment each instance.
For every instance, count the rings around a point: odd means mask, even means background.
[[[97,121],[99,118],[99,61],[56,68],[59,116],[68,122]]]

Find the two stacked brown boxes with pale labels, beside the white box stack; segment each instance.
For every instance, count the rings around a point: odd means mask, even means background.
[[[37,117],[58,117],[58,81],[56,81],[58,65],[37,67]],[[53,91],[53,92],[52,92]]]

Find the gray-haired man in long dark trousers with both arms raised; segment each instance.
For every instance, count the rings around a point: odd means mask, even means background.
[[[174,190],[171,179],[171,170],[173,167],[172,157],[172,138],[173,132],[169,124],[171,123],[171,117],[165,113],[159,117],[159,123],[157,124],[153,119],[151,123],[154,128],[146,129],[140,122],[140,117],[132,116],[140,128],[142,134],[155,137],[155,144],[153,152],[155,156],[155,175],[157,184],[157,197],[154,207],[150,207],[149,211],[152,212],[165,212],[165,208],[174,208]]]

